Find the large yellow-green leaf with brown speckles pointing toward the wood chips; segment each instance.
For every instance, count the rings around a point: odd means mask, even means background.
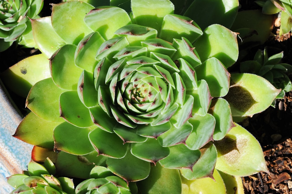
[[[216,169],[235,176],[248,176],[267,172],[262,148],[258,141],[243,127],[237,125],[220,141]]]

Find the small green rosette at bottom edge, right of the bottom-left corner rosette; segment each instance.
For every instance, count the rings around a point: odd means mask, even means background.
[[[96,194],[134,194],[137,187],[133,187],[131,192],[127,182],[115,176],[109,169],[102,166],[95,166],[90,173],[90,179],[86,179],[76,186],[76,194],[96,193]]]

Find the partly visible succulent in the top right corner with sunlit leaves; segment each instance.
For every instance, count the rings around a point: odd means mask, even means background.
[[[291,0],[257,0],[256,4],[263,7],[264,14],[281,12],[281,26],[279,36],[290,32],[292,28],[292,1]]]

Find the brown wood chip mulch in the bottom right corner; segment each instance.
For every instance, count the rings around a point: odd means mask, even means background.
[[[264,149],[269,173],[258,173],[244,177],[246,193],[280,193],[292,194],[292,140]]]

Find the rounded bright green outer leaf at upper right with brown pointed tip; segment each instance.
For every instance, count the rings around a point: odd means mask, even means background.
[[[237,33],[218,24],[208,26],[194,43],[194,47],[199,48],[197,52],[201,61],[215,57],[226,68],[234,64],[238,58]]]

